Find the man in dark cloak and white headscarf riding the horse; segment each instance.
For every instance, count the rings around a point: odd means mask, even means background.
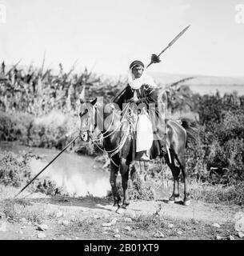
[[[151,112],[154,112],[158,121],[158,92],[156,87],[153,78],[145,74],[144,64],[136,60],[130,64],[126,89],[114,101],[121,110],[129,103],[132,110],[135,106],[136,112],[138,111],[135,121],[136,158],[141,161],[149,161],[150,158],[162,153],[162,146],[154,142],[155,123],[152,124],[151,115]],[[154,156],[150,154],[152,145],[154,145]]]

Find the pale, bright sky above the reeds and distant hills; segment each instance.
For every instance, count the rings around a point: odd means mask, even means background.
[[[62,62],[69,70],[76,62],[76,70],[124,74],[135,59],[147,65],[190,25],[150,71],[244,76],[240,4],[244,0],[0,0],[6,7],[0,61],[41,66],[46,53],[46,67]]]

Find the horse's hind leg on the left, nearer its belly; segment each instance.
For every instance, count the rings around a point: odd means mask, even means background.
[[[171,158],[171,161],[170,161]],[[174,164],[174,153],[172,150],[170,150],[170,158],[169,155],[165,155],[166,163],[170,167],[170,170],[172,171],[173,178],[174,178],[174,189],[173,194],[170,196],[168,203],[173,203],[175,201],[178,201],[179,199],[179,174],[180,174],[180,168],[178,166],[175,166]]]

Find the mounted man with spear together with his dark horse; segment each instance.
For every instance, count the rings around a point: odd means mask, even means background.
[[[159,56],[166,51],[170,46],[178,40],[182,34],[186,32],[189,28],[187,26],[180,34],[178,34],[169,44],[162,50],[158,55],[152,54],[151,62],[146,66],[148,68],[153,63],[160,62]],[[85,94],[84,94],[85,95]],[[161,95],[161,94],[160,94]],[[169,198],[169,203],[177,202],[179,198],[179,174],[182,173],[184,180],[184,199],[183,205],[188,206],[190,204],[190,193],[188,186],[188,171],[186,170],[186,145],[189,138],[195,140],[195,126],[190,120],[186,118],[181,118],[181,122],[177,122],[170,118],[163,118],[163,114],[166,111],[166,104],[158,98],[157,88],[153,82],[153,79],[144,73],[144,64],[140,61],[134,61],[130,64],[130,74],[129,82],[126,89],[115,98],[114,104],[110,104],[109,110],[99,107],[97,104],[97,98],[93,101],[87,100],[85,97],[81,98],[81,103],[88,103],[88,106],[81,107],[79,116],[81,118],[81,133],[80,137],[83,141],[92,138],[93,142],[96,143],[98,139],[102,140],[103,151],[110,155],[110,185],[112,193],[114,196],[114,206],[126,209],[130,204],[130,198],[128,193],[128,179],[129,179],[129,166],[130,163],[135,159],[133,157],[134,150],[134,136],[128,136],[131,126],[131,122],[127,122],[131,118],[131,112],[133,112],[134,106],[136,106],[135,116],[137,118],[136,122],[136,133],[141,136],[141,138],[136,138],[137,146],[136,151],[143,152],[146,158],[146,151],[150,150],[150,159],[156,158],[158,155],[160,158],[164,158],[166,164],[170,167],[174,177],[174,189],[173,194]],[[117,103],[117,104],[116,104]],[[115,110],[115,105],[120,108],[120,110]],[[128,109],[130,106],[130,109]],[[150,116],[150,121],[152,121],[153,116],[158,123],[156,123],[156,136],[153,136],[151,126],[154,126],[155,122],[151,122],[149,126],[149,118],[146,114]],[[125,108],[126,107],[126,108]],[[163,107],[163,110],[162,110]],[[93,111],[89,111],[91,109]],[[132,110],[131,110],[132,109]],[[154,115],[150,114],[150,110],[154,109]],[[117,111],[118,110],[118,111]],[[121,111],[122,110],[122,111]],[[123,111],[124,110],[124,111]],[[133,116],[133,115],[132,115]],[[102,138],[98,136],[93,136],[91,130],[97,126],[100,122],[94,122],[97,117],[101,123],[104,130],[102,131]],[[104,117],[104,118],[102,118]],[[126,121],[126,122],[124,122]],[[88,126],[87,126],[88,124]],[[94,124],[94,125],[93,125]],[[145,125],[146,124],[146,125]],[[147,127],[146,134],[140,135],[139,128]],[[133,127],[133,126],[132,126]],[[125,129],[124,129],[125,128]],[[141,142],[146,142],[145,144]],[[166,142],[166,143],[165,143]],[[97,143],[96,143],[97,144]],[[138,146],[139,144],[139,146]],[[165,145],[166,144],[166,145]],[[97,145],[98,146],[98,145]],[[162,150],[162,146],[166,150]],[[140,151],[141,150],[141,151]],[[166,151],[166,152],[163,152]],[[133,154],[131,154],[133,153]],[[162,154],[166,153],[166,154]],[[132,156],[132,158],[131,158]],[[148,154],[147,154],[148,156]],[[144,158],[144,159],[145,159]],[[137,159],[136,159],[137,160]],[[122,206],[120,206],[121,197],[118,194],[118,187],[116,184],[116,178],[118,176],[118,171],[122,177],[122,188],[123,188],[123,201]],[[119,209],[118,209],[119,210]]]

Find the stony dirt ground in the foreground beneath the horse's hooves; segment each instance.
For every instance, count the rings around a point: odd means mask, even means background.
[[[203,202],[138,201],[118,214],[101,198],[64,197],[18,200],[8,207],[4,211],[12,217],[0,220],[0,239],[239,239],[234,215],[243,211]],[[47,228],[38,230],[40,224]]]

